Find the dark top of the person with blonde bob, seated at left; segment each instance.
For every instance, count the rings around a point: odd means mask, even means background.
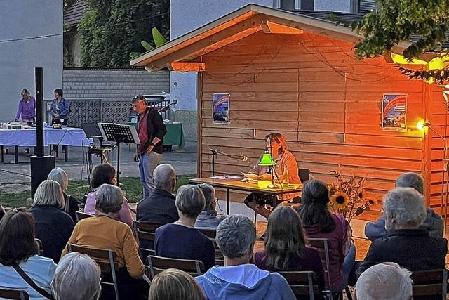
[[[62,249],[72,235],[72,218],[58,207],[48,205],[31,207],[29,212],[34,217],[36,237],[42,241],[43,256],[58,263]]]

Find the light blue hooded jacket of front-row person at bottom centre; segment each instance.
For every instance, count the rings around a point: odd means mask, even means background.
[[[293,300],[295,294],[279,273],[260,270],[253,264],[210,268],[195,278],[207,299]]]

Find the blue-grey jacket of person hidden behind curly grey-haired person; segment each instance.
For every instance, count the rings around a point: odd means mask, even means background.
[[[429,231],[431,237],[441,238],[443,237],[443,219],[433,209],[428,208],[426,219],[420,225],[420,229]],[[381,216],[375,222],[366,223],[365,235],[371,241],[387,235],[384,216]]]

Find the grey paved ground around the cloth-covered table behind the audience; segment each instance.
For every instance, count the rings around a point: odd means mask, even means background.
[[[5,155],[6,163],[0,164],[0,192],[11,193],[29,188],[30,184],[30,164],[28,154],[22,152],[25,148],[19,148],[19,164],[14,164],[14,148],[8,148],[8,155]],[[121,176],[139,176],[138,164],[133,162],[135,155],[135,145],[128,148],[121,145],[120,148],[120,170]],[[173,150],[176,150],[175,146]],[[48,149],[46,148],[46,151]],[[196,142],[187,142],[185,152],[163,152],[163,162],[172,164],[177,174],[196,174]],[[56,167],[61,167],[67,172],[69,179],[86,179],[86,154],[87,148],[69,147],[69,161],[64,162],[63,154],[55,159]],[[109,154],[109,161],[116,167],[117,154],[112,150]],[[93,157],[94,167],[100,164],[100,158]]]

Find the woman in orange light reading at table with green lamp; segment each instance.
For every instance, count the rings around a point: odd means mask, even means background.
[[[278,179],[275,179],[275,181],[282,183],[288,179],[288,183],[299,184],[300,176],[298,175],[297,162],[293,153],[288,151],[286,138],[281,133],[270,133],[265,136],[265,149],[272,155],[272,160],[276,163],[273,166],[273,176],[277,176]],[[249,174],[255,174],[255,176],[250,176],[250,178],[272,181],[270,171],[271,166],[259,166],[256,164],[249,171]],[[288,178],[286,178],[286,173],[288,173]],[[273,197],[276,196],[251,193],[245,198],[244,203],[258,214],[268,217],[271,210],[267,209],[265,205],[272,204],[274,202]],[[294,197],[297,197],[297,195],[292,193],[283,194],[277,196],[277,200],[292,200]]]

